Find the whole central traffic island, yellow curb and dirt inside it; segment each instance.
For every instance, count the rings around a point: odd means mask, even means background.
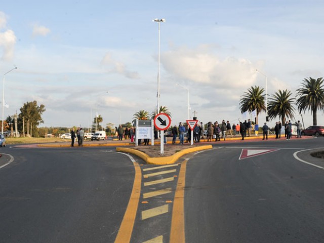
[[[184,145],[171,145],[165,147],[164,154],[159,153],[159,146],[142,146],[136,148],[117,147],[116,151],[135,154],[136,156],[142,158],[146,162],[146,164],[170,165],[174,164],[181,156],[185,154],[212,148],[212,145],[204,145],[193,146],[184,149]]]

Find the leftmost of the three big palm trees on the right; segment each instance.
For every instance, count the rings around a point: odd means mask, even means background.
[[[259,124],[259,113],[262,110],[266,110],[265,95],[263,93],[263,88],[260,88],[259,86],[252,86],[250,89],[248,89],[247,92],[244,92],[244,95],[241,96],[242,98],[239,101],[239,109],[241,113],[244,113],[246,111],[252,112],[254,110],[257,110],[256,124]]]

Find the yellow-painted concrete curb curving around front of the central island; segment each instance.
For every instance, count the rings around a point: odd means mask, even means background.
[[[187,149],[183,149],[179,152],[176,152],[175,154],[173,154],[171,156],[166,156],[166,157],[150,157],[146,153],[143,153],[143,152],[141,152],[137,149],[133,149],[133,148],[117,147],[116,151],[135,154],[138,157],[144,159],[144,161],[150,165],[170,165],[170,164],[174,164],[181,156],[183,156],[187,153],[192,153],[192,152],[201,151],[201,150],[207,150],[207,149],[211,149],[211,148],[213,148],[212,145],[204,145],[204,146],[198,146],[198,147],[193,147],[193,148],[187,148]]]

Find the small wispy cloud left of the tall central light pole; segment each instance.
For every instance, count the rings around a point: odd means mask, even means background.
[[[124,75],[131,79],[140,78],[140,75],[138,74],[138,72],[127,70],[127,68],[123,62],[113,60],[111,57],[111,54],[109,54],[109,53],[107,53],[103,57],[101,64],[104,66],[108,66],[110,68],[108,71],[109,73],[119,73],[119,74]]]

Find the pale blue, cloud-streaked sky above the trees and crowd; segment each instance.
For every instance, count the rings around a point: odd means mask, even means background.
[[[0,6],[5,118],[33,100],[46,108],[41,127],[90,127],[96,113],[102,125],[117,126],[139,110],[153,112],[159,38],[152,20],[164,18],[160,105],[171,124],[188,119],[188,94],[189,119],[236,124],[252,86],[296,97],[303,79],[323,76],[323,12],[315,0],[8,1]],[[312,125],[311,113],[296,107],[292,120],[302,119]],[[322,111],[317,124],[324,125]]]

